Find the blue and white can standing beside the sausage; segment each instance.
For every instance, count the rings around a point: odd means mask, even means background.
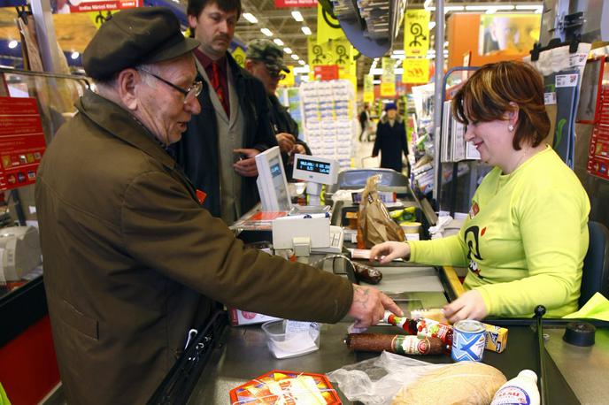
[[[455,362],[482,362],[486,333],[482,322],[464,319],[452,325],[451,357]]]

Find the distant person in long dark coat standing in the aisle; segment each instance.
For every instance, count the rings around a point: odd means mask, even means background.
[[[402,172],[402,153],[408,162],[408,145],[406,142],[406,127],[404,120],[397,114],[395,103],[385,104],[385,115],[376,126],[376,139],[372,157],[377,157],[381,152],[381,167]],[[407,174],[410,174],[410,164],[407,163]]]

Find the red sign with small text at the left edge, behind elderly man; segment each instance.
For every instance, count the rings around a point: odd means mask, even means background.
[[[0,97],[0,190],[34,184],[45,149],[36,99]]]

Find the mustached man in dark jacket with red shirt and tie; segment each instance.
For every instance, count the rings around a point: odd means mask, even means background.
[[[241,15],[240,0],[189,0],[201,113],[193,117],[176,157],[195,187],[207,194],[204,207],[232,225],[260,201],[255,156],[276,146],[266,90],[227,52]]]

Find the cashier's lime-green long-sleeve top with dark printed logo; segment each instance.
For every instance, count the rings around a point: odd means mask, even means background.
[[[489,315],[530,317],[542,304],[562,317],[577,310],[589,212],[582,184],[547,148],[510,174],[493,168],[459,233],[409,241],[410,260],[467,266],[464,287],[482,294]]]

